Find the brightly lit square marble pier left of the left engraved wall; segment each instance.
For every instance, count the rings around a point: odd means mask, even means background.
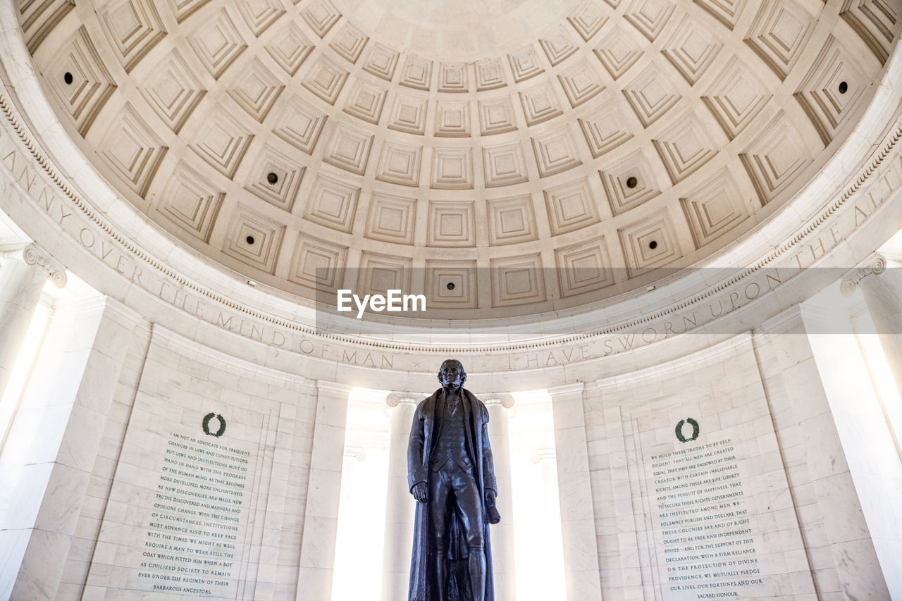
[[[99,295],[56,310],[0,455],[0,598],[73,598],[63,581],[87,579],[88,491],[140,319]]]

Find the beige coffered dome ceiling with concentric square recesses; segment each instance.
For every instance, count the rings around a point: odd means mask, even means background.
[[[19,5],[60,121],[158,227],[296,297],[466,317],[600,301],[749,234],[851,133],[902,22],[902,0]]]

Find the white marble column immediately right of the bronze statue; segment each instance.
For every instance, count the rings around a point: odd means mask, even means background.
[[[495,598],[514,601],[517,581],[514,573],[513,488],[511,486],[511,421],[513,397],[494,394],[482,399],[489,410],[489,440],[498,484],[498,513],[502,521],[491,526],[492,572]]]

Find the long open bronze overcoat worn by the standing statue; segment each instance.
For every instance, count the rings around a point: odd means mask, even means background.
[[[488,422],[489,411],[485,408],[482,401],[477,399],[473,393],[461,388],[464,415],[468,425],[466,430],[467,446],[474,454],[474,470],[473,474],[476,479],[476,485],[479,487],[479,497],[483,500],[483,515],[485,511],[485,489],[491,488],[497,493],[498,486],[495,483],[494,467],[492,465],[492,448],[489,445]],[[410,428],[410,441],[407,450],[407,483],[408,489],[412,489],[413,485],[418,482],[427,482],[431,476],[429,470],[429,455],[432,448],[433,435],[436,434],[440,425],[440,418],[445,409],[445,389],[439,388],[432,393],[423,402],[420,402],[417,411],[413,417],[413,425]],[[435,593],[432,587],[437,586],[435,582],[432,562],[430,557],[434,557],[435,537],[431,535],[429,520],[429,502],[417,503],[417,510],[414,517],[413,527],[413,553],[410,558],[410,589],[408,593],[409,601],[432,601],[435,599]],[[449,537],[449,560],[452,562],[446,570],[451,578],[450,580],[459,583],[466,581],[466,559],[465,553],[466,542],[464,533],[457,523],[456,516],[452,520],[451,531]],[[492,580],[492,549],[489,541],[489,519],[485,516],[483,520],[485,524],[485,601],[494,601],[494,585]],[[462,559],[462,560],[459,560]],[[463,569],[463,573],[460,571]],[[457,575],[457,576],[456,576]],[[457,591],[457,585],[452,585],[448,596],[450,601],[467,601],[467,599]]]

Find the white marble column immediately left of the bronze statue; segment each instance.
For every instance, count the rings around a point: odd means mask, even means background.
[[[391,411],[391,441],[382,556],[382,601],[406,599],[408,593],[416,501],[407,487],[407,443],[413,413],[422,400],[423,395],[416,393],[391,393],[385,399]]]

